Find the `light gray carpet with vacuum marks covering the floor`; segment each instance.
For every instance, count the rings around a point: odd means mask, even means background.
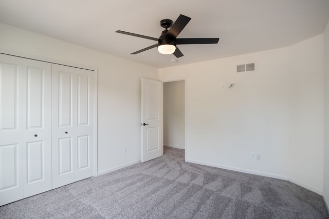
[[[184,150],[0,207],[0,218],[329,218],[322,196],[184,162]]]

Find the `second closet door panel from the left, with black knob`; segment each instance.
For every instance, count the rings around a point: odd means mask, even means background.
[[[23,61],[24,197],[51,189],[51,64]]]

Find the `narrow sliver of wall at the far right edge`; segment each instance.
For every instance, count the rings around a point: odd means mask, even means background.
[[[324,165],[323,197],[329,209],[329,22],[324,34]]]

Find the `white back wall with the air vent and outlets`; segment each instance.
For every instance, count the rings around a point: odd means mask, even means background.
[[[257,71],[235,73],[251,62]],[[288,75],[287,48],[160,69],[160,80],[187,77],[187,160],[286,176]]]

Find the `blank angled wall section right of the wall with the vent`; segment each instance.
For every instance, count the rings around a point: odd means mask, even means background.
[[[290,178],[323,190],[323,34],[289,48]]]

